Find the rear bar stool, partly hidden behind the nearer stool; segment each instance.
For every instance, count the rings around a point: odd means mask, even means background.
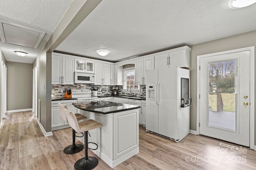
[[[67,119],[67,117],[66,117],[66,115],[64,113],[64,109],[68,109],[68,107],[66,105],[62,105],[60,103],[58,103],[58,106],[59,106],[59,109],[60,109],[60,118],[68,123],[68,119]],[[81,120],[87,119],[86,116],[81,115],[79,113],[76,113],[74,115],[75,115],[77,121],[81,121]],[[73,138],[73,144],[68,146],[68,147],[66,147],[63,150],[63,152],[65,154],[75,154],[75,153],[80,152],[81,150],[84,149],[83,145],[76,144],[76,131],[74,129],[73,129],[72,138]]]

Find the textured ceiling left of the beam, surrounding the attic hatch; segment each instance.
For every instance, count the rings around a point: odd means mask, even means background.
[[[0,20],[45,32],[38,49],[21,47],[28,54],[19,57],[14,51],[20,46],[0,42],[0,49],[7,61],[33,63],[50,35],[60,22],[72,0],[0,0]]]

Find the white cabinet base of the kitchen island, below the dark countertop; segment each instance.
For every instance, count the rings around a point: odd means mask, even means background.
[[[101,128],[90,130],[89,142],[97,143],[92,150],[111,168],[124,162],[139,152],[138,111],[132,109],[115,113],[101,114],[80,110],[82,115],[102,124]],[[84,143],[84,138],[79,138]],[[89,143],[88,147],[95,148]]]

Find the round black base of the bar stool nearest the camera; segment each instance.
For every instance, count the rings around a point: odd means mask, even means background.
[[[99,161],[93,156],[88,156],[88,159],[81,158],[76,161],[74,168],[76,170],[92,170],[98,165]]]

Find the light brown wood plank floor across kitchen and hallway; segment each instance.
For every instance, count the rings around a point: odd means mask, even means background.
[[[220,146],[220,141],[191,134],[175,143],[146,133],[143,127],[139,134],[140,153],[114,170],[256,169],[254,150],[229,149]],[[84,151],[64,154],[63,149],[71,144],[71,128],[44,137],[31,111],[7,113],[0,129],[0,170],[73,170],[76,160],[84,157]],[[96,155],[89,150],[89,156]],[[98,159],[96,170],[111,169]]]

